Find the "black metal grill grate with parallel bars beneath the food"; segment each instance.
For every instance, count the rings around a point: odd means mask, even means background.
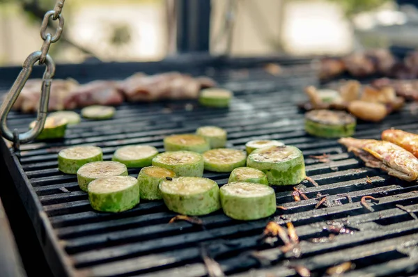
[[[280,61],[284,71],[278,77],[263,70],[266,61]],[[36,141],[21,146],[13,154],[1,141],[7,170],[36,235],[56,276],[206,276],[200,248],[219,262],[231,276],[296,276],[289,265],[304,265],[321,276],[328,267],[352,261],[355,269],[346,276],[410,276],[418,269],[418,221],[396,207],[418,211],[416,182],[402,182],[382,171],[366,168],[362,161],[336,143],[304,133],[303,114],[295,102],[303,99],[302,87],[316,84],[309,60],[235,58],[219,60],[195,58],[160,63],[61,65],[57,77],[79,81],[122,78],[136,71],[147,73],[180,70],[207,74],[235,92],[230,109],[208,109],[194,101],[123,104],[116,117],[106,121],[86,121],[69,127],[63,141]],[[17,68],[2,70],[1,85],[10,86]],[[40,70],[34,72],[40,74]],[[8,124],[20,130],[33,116],[10,113]],[[278,139],[300,148],[307,175],[318,182],[302,182],[298,187],[311,199],[295,202],[293,187],[279,187],[278,209],[270,219],[234,221],[222,212],[201,216],[205,228],[187,222],[167,224],[174,216],[162,201],[142,201],[121,214],[94,212],[86,193],[79,190],[74,175],[60,173],[57,152],[72,145],[91,144],[103,148],[104,159],[122,145],[146,143],[160,151],[169,134],[194,132],[201,125],[217,125],[229,132],[228,147],[244,149],[252,139]],[[380,124],[359,122],[357,138],[378,139],[383,129],[418,131],[417,120],[408,106]],[[330,155],[321,162],[311,155]],[[139,170],[130,170],[136,177]],[[205,172],[219,185],[228,174]],[[314,209],[317,193],[329,194],[329,207]],[[346,193],[353,199],[339,194]],[[374,212],[360,205],[362,196],[374,196]],[[275,219],[292,221],[301,239],[300,258],[281,255],[279,248],[261,244],[265,224]],[[324,237],[328,221],[344,222],[354,235],[338,235],[332,242],[314,244],[309,239]],[[329,222],[328,222],[329,223]],[[263,261],[251,255],[259,251]],[[275,275],[274,275],[275,274]]]

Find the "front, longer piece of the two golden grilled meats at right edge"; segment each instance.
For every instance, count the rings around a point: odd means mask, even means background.
[[[366,166],[380,168],[401,180],[418,179],[418,159],[394,143],[353,138],[339,139],[339,143],[362,159]]]

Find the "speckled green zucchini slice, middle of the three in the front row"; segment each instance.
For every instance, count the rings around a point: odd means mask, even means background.
[[[210,214],[221,208],[217,183],[202,177],[178,177],[160,184],[169,210],[187,216]]]

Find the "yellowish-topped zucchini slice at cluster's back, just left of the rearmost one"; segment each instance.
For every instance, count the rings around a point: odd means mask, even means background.
[[[203,136],[195,134],[175,134],[164,138],[166,151],[193,151],[203,153],[210,149],[208,141]]]

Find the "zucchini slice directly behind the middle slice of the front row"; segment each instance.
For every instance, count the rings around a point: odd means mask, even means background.
[[[177,176],[202,177],[204,161],[202,155],[191,151],[169,151],[153,159],[153,166],[174,171]]]

